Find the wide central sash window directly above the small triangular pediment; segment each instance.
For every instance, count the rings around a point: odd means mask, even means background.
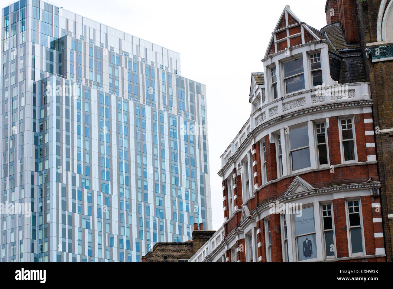
[[[311,166],[311,161],[307,125],[289,131],[289,146],[292,171],[309,168]]]

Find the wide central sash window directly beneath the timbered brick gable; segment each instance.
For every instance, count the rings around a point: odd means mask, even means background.
[[[303,57],[287,61],[283,66],[286,94],[304,89]]]

